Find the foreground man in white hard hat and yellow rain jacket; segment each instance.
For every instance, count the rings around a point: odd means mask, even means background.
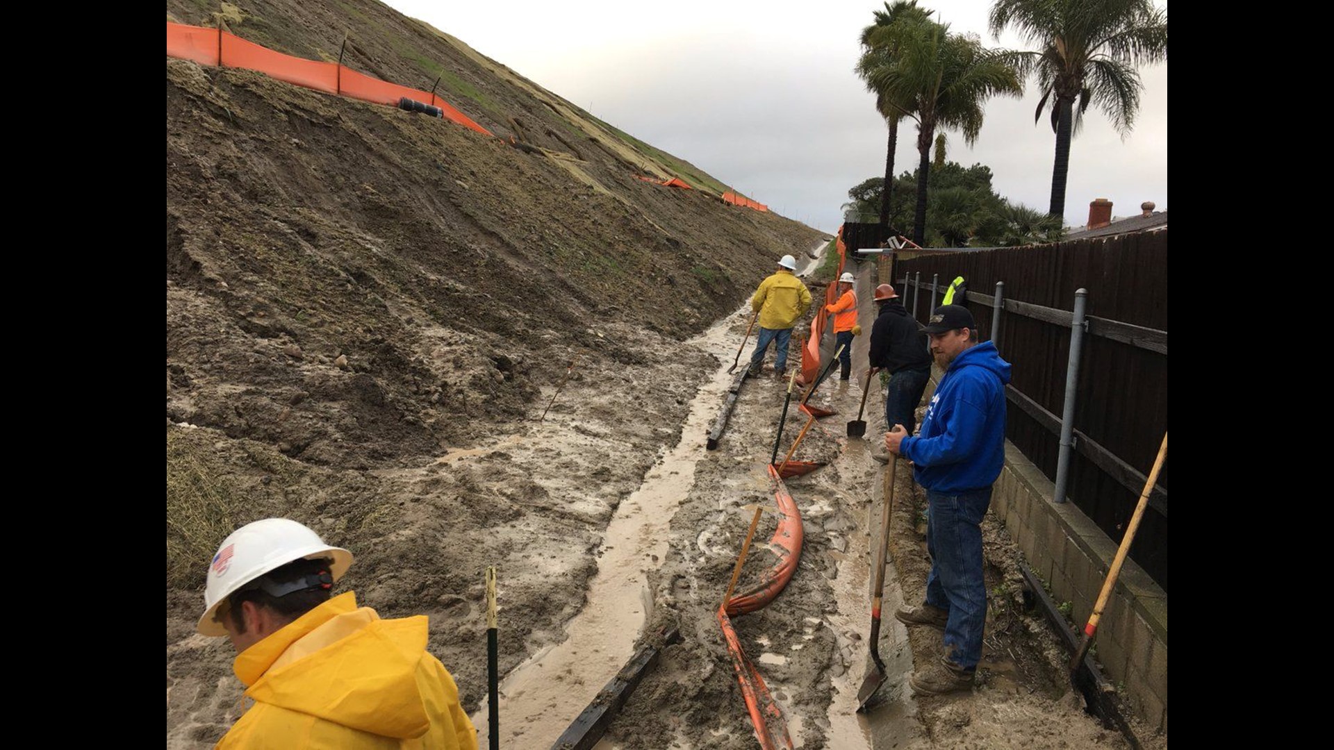
[[[459,689],[426,651],[427,618],[380,619],[351,591],[352,554],[285,518],[223,540],[204,589],[203,635],[225,635],[255,703],[219,749],[476,750]]]

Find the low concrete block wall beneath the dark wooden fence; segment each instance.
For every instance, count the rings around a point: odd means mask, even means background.
[[[1082,630],[1117,556],[1117,544],[1074,503],[1053,502],[1055,486],[1006,442],[1006,466],[991,494],[1025,559],[1051,585],[1057,602],[1070,602]],[[1094,639],[1097,659],[1125,687],[1134,711],[1167,731],[1167,594],[1126,559]]]

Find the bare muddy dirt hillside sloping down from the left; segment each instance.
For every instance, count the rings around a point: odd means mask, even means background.
[[[269,515],[352,548],[363,603],[430,615],[474,710],[483,567],[514,573],[511,669],[560,638],[611,512],[675,443],[716,362],[684,340],[824,238],[720,203],[690,164],[379,3],[221,8],[233,33],[309,59],[350,31],[351,67],[439,76],[532,149],[167,60],[168,745],[237,715],[229,647],[193,619],[216,544]],[[213,25],[217,5],[167,11]]]

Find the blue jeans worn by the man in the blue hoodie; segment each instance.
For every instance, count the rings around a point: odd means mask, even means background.
[[[976,669],[982,659],[982,627],[987,621],[987,586],[982,577],[982,516],[991,504],[991,487],[950,495],[926,491],[926,548],[931,573],[926,603],[950,613],[944,646],[959,667]]]

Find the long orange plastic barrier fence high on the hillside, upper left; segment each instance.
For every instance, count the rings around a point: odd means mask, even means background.
[[[399,99],[406,96],[439,107],[447,120],[483,135],[492,135],[491,131],[476,124],[467,115],[459,112],[431,92],[374,79],[338,63],[305,60],[303,57],[283,55],[281,52],[275,52],[264,45],[247,41],[233,33],[216,28],[167,21],[167,56],[193,60],[201,65],[259,71],[280,81],[313,88],[324,93],[351,96],[375,104],[396,107]]]

